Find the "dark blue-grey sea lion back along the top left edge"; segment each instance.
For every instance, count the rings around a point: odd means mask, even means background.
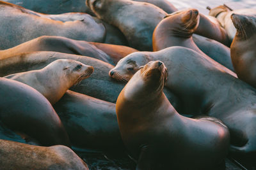
[[[40,13],[60,14],[68,12],[83,12],[92,15],[92,11],[85,5],[84,0],[5,0],[8,3],[16,4]]]

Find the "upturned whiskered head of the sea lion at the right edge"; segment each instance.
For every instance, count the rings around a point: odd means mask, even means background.
[[[256,33],[256,17],[233,13],[231,20],[236,27],[236,38],[249,39]]]

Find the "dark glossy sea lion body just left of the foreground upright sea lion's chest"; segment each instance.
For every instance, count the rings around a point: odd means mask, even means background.
[[[124,150],[116,120],[116,104],[68,90],[54,109],[72,145],[98,150]]]

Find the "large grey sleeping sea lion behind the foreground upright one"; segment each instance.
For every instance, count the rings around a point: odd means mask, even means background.
[[[166,65],[165,87],[180,98],[179,113],[219,118],[230,131],[232,151],[256,153],[255,89],[227,74],[220,64],[180,46],[159,52],[132,53],[120,60],[109,74],[117,80],[129,80],[150,60],[161,60]]]

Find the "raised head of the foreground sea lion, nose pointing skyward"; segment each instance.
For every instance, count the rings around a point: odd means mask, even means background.
[[[125,85],[124,97],[127,101],[152,101],[163,93],[166,81],[167,69],[164,63],[159,60],[148,62]]]

